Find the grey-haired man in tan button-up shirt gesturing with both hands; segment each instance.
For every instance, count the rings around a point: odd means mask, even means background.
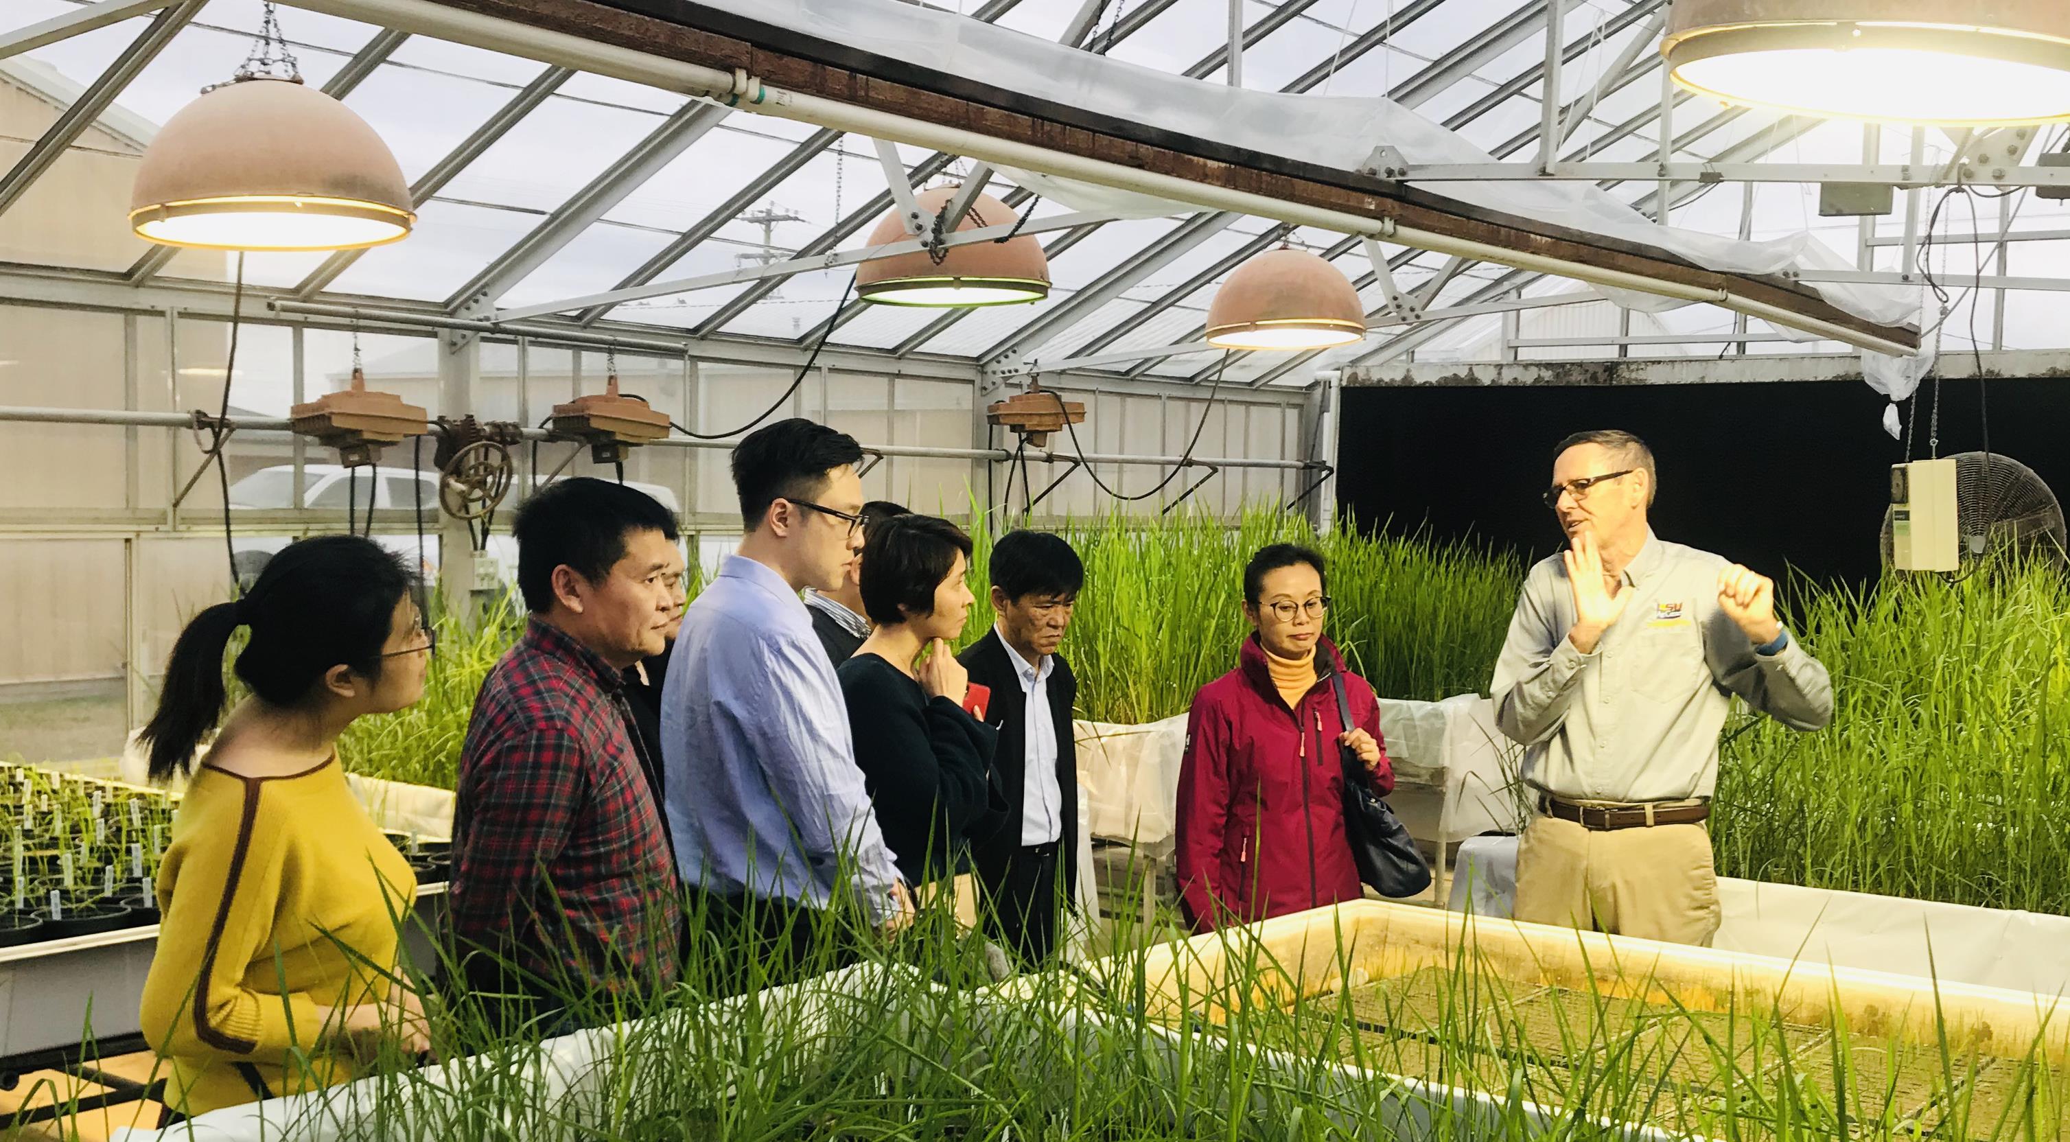
[[[1731,699],[1815,730],[1832,683],[1776,621],[1774,581],[1656,538],[1652,499],[1637,437],[1561,443],[1546,503],[1571,546],[1532,567],[1495,664],[1497,724],[1538,792],[1515,916],[1710,943],[1704,819]]]

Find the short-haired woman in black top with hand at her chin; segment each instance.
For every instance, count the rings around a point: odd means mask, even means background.
[[[971,834],[1004,811],[989,780],[998,730],[963,710],[969,674],[948,648],[971,612],[969,559],[948,519],[878,523],[861,575],[876,629],[836,670],[878,828],[915,888],[967,871]]]

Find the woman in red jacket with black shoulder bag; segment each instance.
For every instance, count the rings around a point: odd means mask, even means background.
[[[1244,567],[1244,639],[1236,670],[1201,687],[1178,776],[1180,904],[1196,931],[1358,900],[1343,834],[1343,759],[1352,749],[1385,794],[1381,703],[1323,637],[1323,557],[1273,544]],[[1343,672],[1352,724],[1337,716]]]

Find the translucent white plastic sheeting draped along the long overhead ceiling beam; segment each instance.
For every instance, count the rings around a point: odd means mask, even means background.
[[[1035,99],[1333,170],[1352,172],[1366,166],[1381,145],[1393,147],[1412,166],[1495,161],[1459,134],[1385,97],[1283,95],[1186,79],[1078,52],[944,8],[896,0],[762,0],[751,14],[799,35],[832,39],[944,74],[981,77],[994,87]],[[1029,172],[1008,172],[1008,176],[1072,209],[1120,209],[1141,215],[1188,211],[1176,203]],[[1809,232],[1755,242],[1658,226],[1594,182],[1476,180],[1428,186],[1459,203],[1652,246],[1722,273],[1855,269]],[[1851,283],[1820,283],[1813,290],[1834,306],[1875,323],[1894,325],[1919,312],[1917,296],[1906,290]],[[1652,294],[1615,294],[1613,300],[1631,308],[1664,310],[1687,304]]]

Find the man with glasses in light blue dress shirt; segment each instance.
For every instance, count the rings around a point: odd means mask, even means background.
[[[739,443],[747,536],[689,604],[669,658],[664,788],[683,883],[704,892],[708,931],[747,941],[774,976],[782,956],[840,948],[826,925],[847,904],[882,931],[913,919],[799,600],[838,585],[861,544],[861,459],[855,439],[809,420]]]

